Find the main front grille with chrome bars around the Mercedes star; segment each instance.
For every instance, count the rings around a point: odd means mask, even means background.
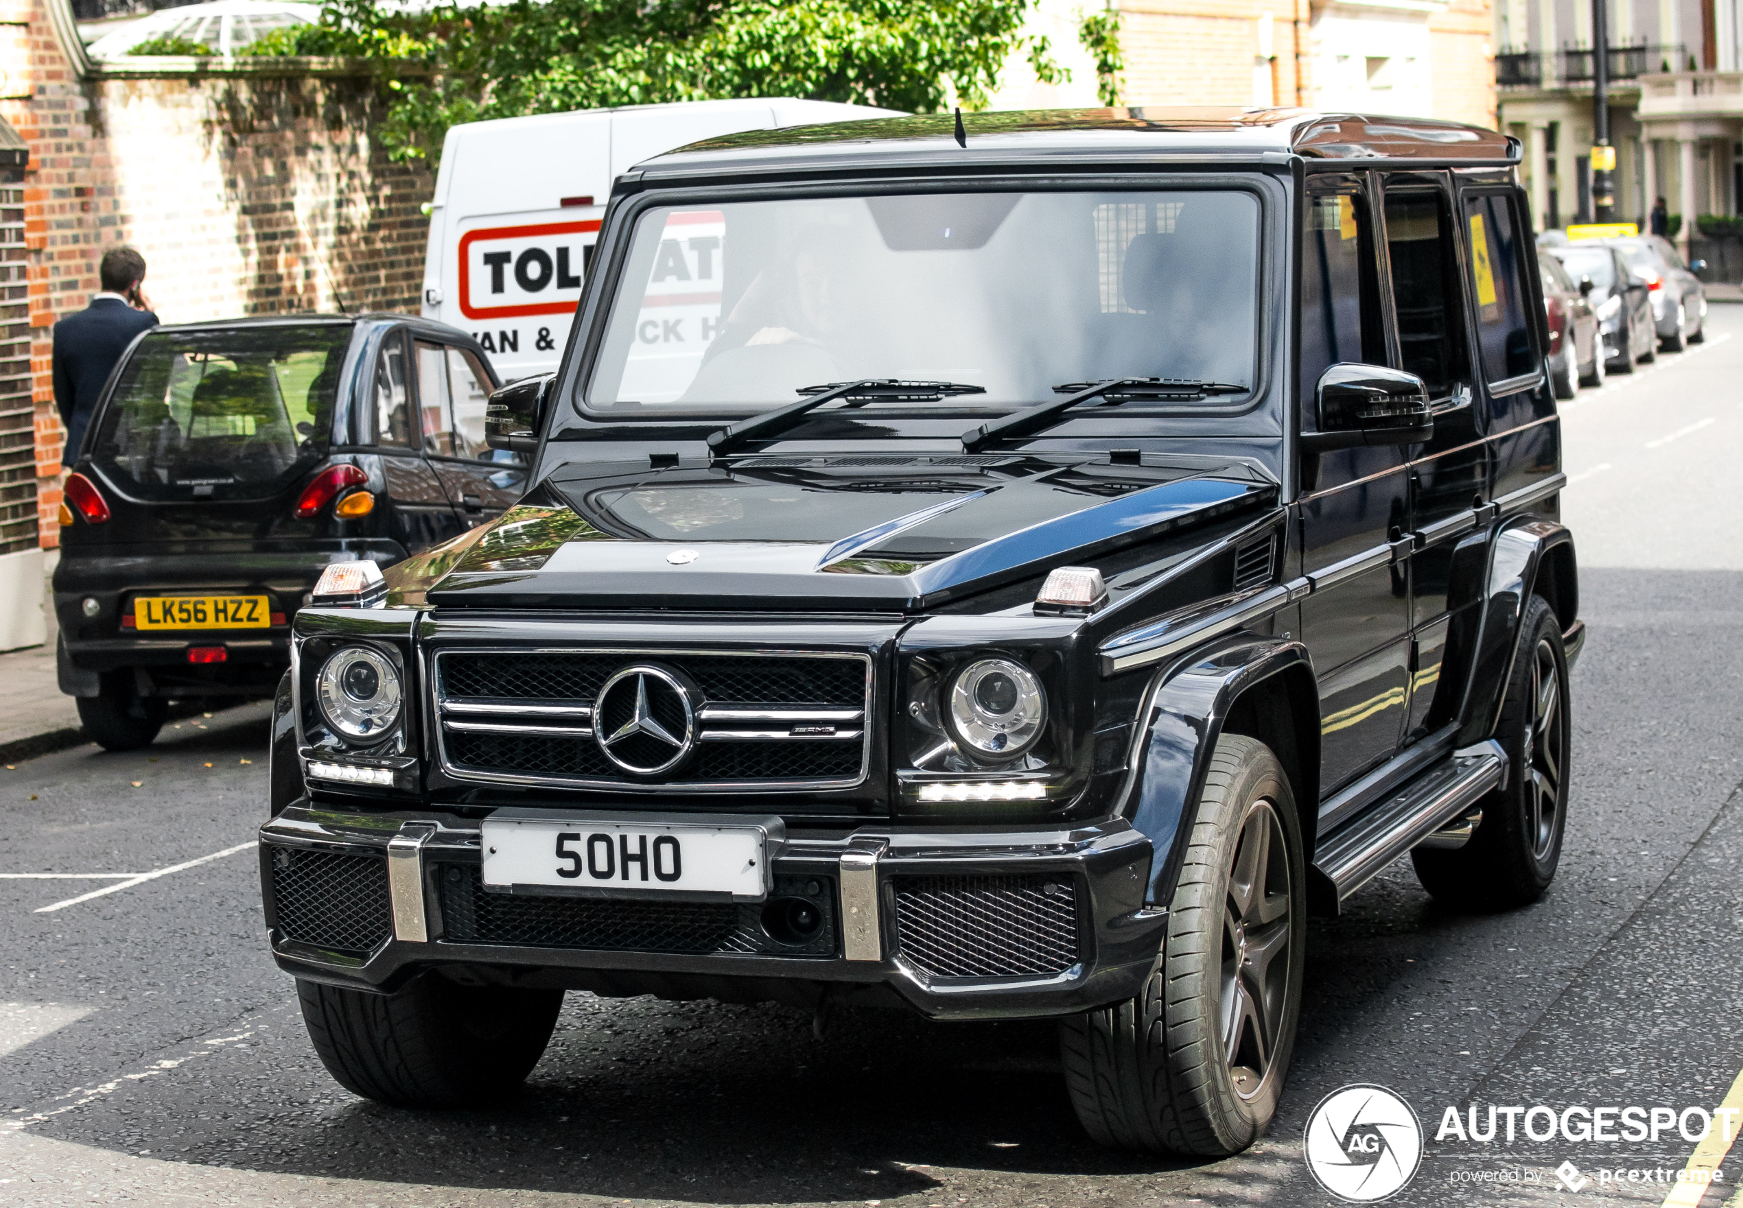
[[[598,696],[631,666],[669,673],[692,694],[690,750],[633,734],[594,739]],[[434,657],[443,765],[462,779],[558,783],[633,791],[851,788],[865,779],[872,661],[859,654],[720,650],[441,650]],[[622,682],[621,682],[622,683]],[[676,690],[650,678],[650,718],[682,737]],[[607,692],[608,730],[636,687]],[[664,694],[664,696],[662,696]]]

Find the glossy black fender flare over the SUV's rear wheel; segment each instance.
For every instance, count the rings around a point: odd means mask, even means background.
[[[1565,554],[1555,553],[1563,549]],[[1501,722],[1506,683],[1513,675],[1518,628],[1551,556],[1565,556],[1569,561],[1570,598],[1560,601],[1565,614],[1560,615],[1560,624],[1567,629],[1579,608],[1574,533],[1553,519],[1522,516],[1502,523],[1489,544],[1485,598],[1471,673],[1464,683],[1464,708],[1459,709],[1462,718],[1459,746],[1490,737]]]

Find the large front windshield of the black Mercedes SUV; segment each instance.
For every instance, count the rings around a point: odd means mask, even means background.
[[[1250,387],[1257,295],[1241,190],[661,206],[636,223],[587,401],[743,411],[863,378],[1006,406],[1121,377]]]

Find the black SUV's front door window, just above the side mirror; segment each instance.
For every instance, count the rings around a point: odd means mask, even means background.
[[[1340,361],[1384,364],[1373,263],[1368,253],[1368,213],[1361,197],[1307,199],[1307,235],[1302,246],[1302,349],[1304,397],[1326,366]]]

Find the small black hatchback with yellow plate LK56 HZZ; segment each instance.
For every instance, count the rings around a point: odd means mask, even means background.
[[[408,316],[153,328],[98,403],[61,509],[61,690],[110,750],[173,697],[270,696],[328,563],[392,565],[498,516],[478,343]]]

